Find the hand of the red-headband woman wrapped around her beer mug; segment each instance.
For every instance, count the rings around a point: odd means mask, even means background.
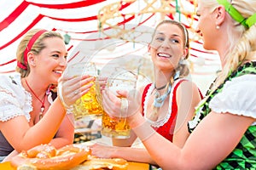
[[[58,95],[66,107],[73,105],[77,99],[86,94],[94,84],[94,77],[84,75],[81,77],[64,77],[58,82]]]

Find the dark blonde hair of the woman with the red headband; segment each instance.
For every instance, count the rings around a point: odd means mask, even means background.
[[[21,39],[20,44],[16,51],[16,58],[17,62],[21,65],[25,65],[26,69],[20,68],[19,66],[16,66],[16,71],[20,72],[21,77],[27,77],[27,75],[30,73],[30,66],[25,63],[24,59],[24,52],[27,48],[27,44],[30,42],[32,37],[38,32],[42,31],[43,29],[32,29],[31,31],[26,32],[25,36]],[[44,48],[46,48],[46,45],[44,44],[44,39],[49,37],[60,37],[63,40],[63,37],[60,33],[55,31],[45,31],[43,34],[41,34],[38,39],[33,43],[32,48],[30,51],[33,54],[39,54]],[[64,41],[64,40],[63,40]]]

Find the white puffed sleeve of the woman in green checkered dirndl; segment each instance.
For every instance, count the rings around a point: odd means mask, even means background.
[[[235,77],[226,82],[222,92],[212,98],[209,107],[217,113],[229,112],[256,119],[256,75]]]

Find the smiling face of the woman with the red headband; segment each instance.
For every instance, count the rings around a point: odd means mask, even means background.
[[[32,54],[34,58],[29,61],[34,63],[31,73],[55,84],[67,67],[67,49],[60,37],[45,38],[43,42],[45,48],[39,54]]]

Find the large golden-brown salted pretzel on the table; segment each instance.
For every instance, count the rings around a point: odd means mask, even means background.
[[[12,158],[11,165],[17,169],[70,169],[87,160],[89,155],[88,148],[75,144],[59,150],[49,144],[41,144],[20,152]]]

